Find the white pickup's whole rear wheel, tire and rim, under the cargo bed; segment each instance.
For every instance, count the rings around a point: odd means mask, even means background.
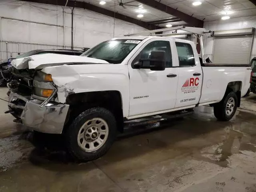
[[[236,113],[237,104],[235,92],[225,94],[224,98],[214,106],[215,117],[221,121],[229,121]]]

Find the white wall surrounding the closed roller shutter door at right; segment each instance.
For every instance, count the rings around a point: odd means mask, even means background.
[[[230,18],[228,20],[218,20],[211,22],[204,22],[204,28],[206,30],[233,30],[242,28],[256,27],[256,16],[242,17],[242,18]],[[204,54],[206,57],[212,60],[212,52],[214,46],[214,37],[210,37],[210,34],[204,36]],[[252,46],[251,58],[256,56],[256,34],[254,34],[254,42]]]

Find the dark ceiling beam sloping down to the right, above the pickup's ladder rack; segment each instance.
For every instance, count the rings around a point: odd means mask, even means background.
[[[200,19],[194,18],[186,13],[183,13],[177,9],[174,9],[170,6],[167,6],[165,4],[162,4],[158,1],[155,0],[136,0],[137,2],[140,2],[144,5],[150,6],[152,8],[158,9],[162,12],[168,13],[170,15],[173,15],[175,17],[180,18],[181,20],[183,20],[184,22],[195,26],[195,27],[203,27],[204,26],[204,22]]]

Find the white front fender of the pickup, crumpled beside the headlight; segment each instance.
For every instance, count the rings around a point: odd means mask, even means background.
[[[70,94],[118,91],[122,97],[124,116],[129,113],[130,79],[124,64],[74,64],[50,66],[42,72],[52,75],[58,89],[58,102],[65,104]]]

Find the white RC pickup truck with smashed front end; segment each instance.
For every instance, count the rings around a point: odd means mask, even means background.
[[[193,42],[160,36],[115,38],[82,56],[35,55],[12,65],[28,89],[11,92],[6,113],[34,131],[63,134],[70,154],[86,161],[105,154],[134,119],[210,104],[218,120],[230,120],[251,73],[246,65],[201,64]]]

